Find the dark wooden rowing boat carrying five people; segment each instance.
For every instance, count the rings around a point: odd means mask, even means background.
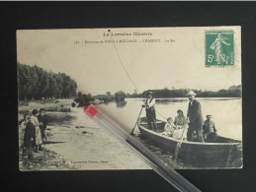
[[[163,135],[164,121],[157,120],[157,130],[148,129],[145,117],[139,118],[137,126],[142,139],[146,139],[165,152],[175,153],[181,142]],[[194,167],[241,167],[242,142],[219,136],[217,143],[200,143],[184,140],[180,147],[178,159]]]

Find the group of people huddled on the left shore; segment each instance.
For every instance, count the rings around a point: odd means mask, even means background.
[[[40,111],[34,109],[31,115],[24,114],[24,118],[20,121],[20,140],[23,141],[20,147],[24,156],[28,155],[28,158],[32,159],[33,152],[43,151],[42,145],[46,141],[46,126],[44,108],[41,108]]]

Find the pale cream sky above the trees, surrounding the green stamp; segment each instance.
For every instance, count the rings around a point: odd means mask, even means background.
[[[108,30],[17,31],[18,62],[65,73],[77,82],[78,91],[92,95],[132,94],[135,88],[138,93],[164,88],[218,91],[241,85],[239,27],[111,29],[151,35],[104,36]],[[205,32],[215,30],[234,31],[234,67],[205,67]]]

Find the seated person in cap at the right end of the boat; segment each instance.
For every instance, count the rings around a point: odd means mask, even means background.
[[[207,120],[204,123],[203,130],[204,130],[204,140],[206,142],[215,142],[217,139],[216,129],[214,122],[212,120],[213,115],[207,115]]]

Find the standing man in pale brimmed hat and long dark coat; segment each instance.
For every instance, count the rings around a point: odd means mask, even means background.
[[[187,140],[193,141],[194,133],[197,133],[197,141],[204,142],[203,138],[203,125],[204,119],[201,110],[201,103],[195,99],[197,96],[193,91],[190,91],[189,96],[189,107],[187,117],[189,119],[189,129],[187,132]]]

